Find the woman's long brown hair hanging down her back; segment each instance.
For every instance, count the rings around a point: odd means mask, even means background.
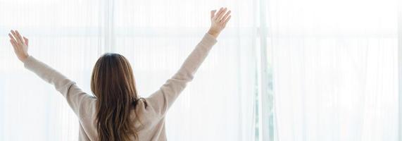
[[[137,90],[130,63],[120,54],[104,54],[92,72],[91,90],[96,101],[96,128],[100,141],[138,139],[130,112],[137,104]]]

